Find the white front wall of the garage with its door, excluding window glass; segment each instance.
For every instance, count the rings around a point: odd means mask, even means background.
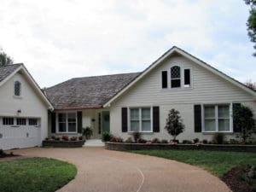
[[[21,97],[14,96],[14,82],[21,83]],[[32,88],[32,84],[20,73],[16,73],[11,79],[0,87],[0,148],[25,148],[32,145],[41,145],[47,137],[47,107],[41,101],[38,94]],[[20,109],[21,113],[17,113]],[[10,127],[3,126],[3,117],[26,117],[37,118],[38,127]],[[28,121],[26,119],[26,124]],[[29,136],[26,133],[29,132]],[[39,138],[39,139],[38,139]],[[26,142],[24,142],[26,140]]]

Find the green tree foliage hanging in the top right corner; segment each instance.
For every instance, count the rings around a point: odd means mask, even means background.
[[[247,20],[247,32],[256,49],[256,0],[244,0],[250,6],[250,15]],[[256,56],[256,52],[253,53]]]

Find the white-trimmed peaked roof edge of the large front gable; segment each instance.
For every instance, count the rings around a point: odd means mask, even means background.
[[[134,84],[137,84],[137,82],[140,81],[141,79],[143,79],[143,77],[146,74],[148,74],[151,70],[153,70],[155,67],[157,67],[162,61],[165,61],[167,58],[169,58],[172,55],[182,55],[185,58],[189,59],[190,61],[194,61],[195,64],[197,64],[197,65],[199,65],[201,67],[204,67],[207,70],[211,71],[212,73],[218,75],[218,77],[229,81],[231,84],[235,84],[237,87],[239,87],[242,90],[248,92],[252,96],[256,96],[256,91],[255,90],[251,90],[251,89],[247,88],[247,86],[245,84],[241,84],[236,79],[230,78],[230,76],[228,76],[228,75],[218,71],[218,69],[216,69],[214,67],[211,67],[209,64],[207,64],[204,61],[201,61],[200,59],[196,58],[194,55],[190,55],[188,52],[184,51],[183,49],[180,49],[180,48],[177,48],[176,46],[174,46],[174,47],[172,47],[172,49],[167,50],[164,55],[161,55],[160,58],[157,59],[156,61],[154,61],[149,67],[147,67],[143,71],[143,73],[141,73],[139,76],[137,76],[136,79],[131,81],[130,84],[125,86],[125,88],[123,90],[120,90],[118,94],[116,94],[108,102],[106,102],[103,107],[104,108],[109,107],[111,105],[111,103],[113,101],[115,101],[119,96],[124,94],[126,90],[130,89],[131,86],[133,86]]]

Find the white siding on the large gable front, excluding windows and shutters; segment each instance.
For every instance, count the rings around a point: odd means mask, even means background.
[[[189,89],[170,89],[170,68],[173,65],[188,67],[191,69],[192,88]],[[168,89],[161,89],[161,71],[168,71]],[[230,82],[221,79],[216,74],[207,69],[196,65],[183,57],[172,57],[162,62],[153,71],[148,73],[137,84],[127,90],[123,96],[120,96],[116,102],[111,104],[110,108],[110,130],[113,135],[119,137],[131,137],[129,133],[121,131],[121,108],[123,107],[144,107],[160,106],[160,132],[145,133],[145,139],[159,137],[161,139],[170,139],[164,129],[166,125],[167,113],[170,109],[177,109],[182,116],[183,123],[186,126],[185,131],[177,139],[194,138],[208,139],[211,134],[194,132],[194,105],[207,103],[230,103],[241,102],[253,109],[256,114],[256,103],[253,102],[253,96],[241,88],[236,87]],[[228,134],[228,138],[236,137],[236,134]]]

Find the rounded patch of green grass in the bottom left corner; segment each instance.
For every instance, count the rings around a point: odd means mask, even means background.
[[[77,168],[61,160],[28,158],[0,162],[0,192],[53,192],[72,180]]]

